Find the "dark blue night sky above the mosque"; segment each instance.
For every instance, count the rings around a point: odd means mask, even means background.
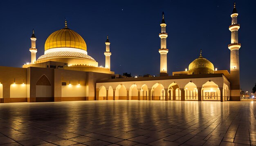
[[[105,65],[109,36],[111,71],[158,75],[160,23],[165,13],[168,73],[184,71],[202,56],[218,70],[230,70],[233,0],[1,0],[0,66],[21,67],[30,62],[31,34],[35,29],[37,58],[44,54],[47,37],[67,26],[87,44],[88,55]],[[236,0],[241,43],[240,88],[252,91],[256,82],[256,0]]]

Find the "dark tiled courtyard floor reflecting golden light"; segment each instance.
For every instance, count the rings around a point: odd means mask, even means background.
[[[0,104],[1,145],[256,145],[256,102]]]

